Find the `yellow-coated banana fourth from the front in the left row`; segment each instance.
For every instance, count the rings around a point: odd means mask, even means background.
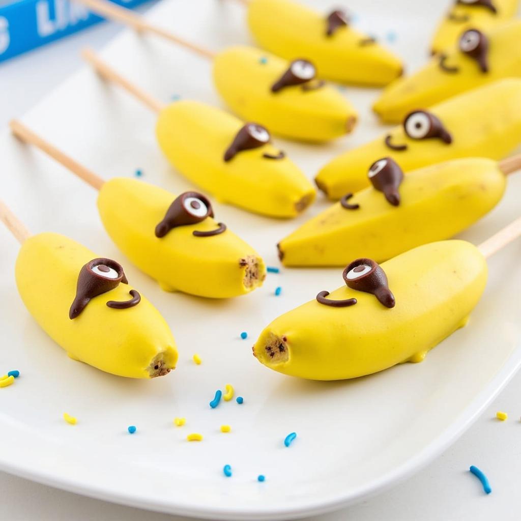
[[[350,132],[356,123],[356,111],[332,86],[318,86],[314,80],[314,89],[293,85],[271,91],[289,65],[261,49],[229,47],[214,60],[214,81],[236,114],[265,125],[275,134],[324,142]]]

